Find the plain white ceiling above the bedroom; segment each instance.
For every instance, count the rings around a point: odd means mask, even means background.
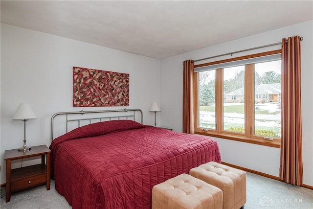
[[[1,23],[163,59],[313,20],[313,1],[1,0]]]

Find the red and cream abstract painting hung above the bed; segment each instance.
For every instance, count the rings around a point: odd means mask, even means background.
[[[73,67],[73,107],[129,106],[129,74]]]

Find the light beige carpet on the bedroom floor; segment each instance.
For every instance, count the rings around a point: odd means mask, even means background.
[[[54,189],[38,186],[11,195],[5,203],[1,193],[1,209],[71,209],[65,198]],[[247,173],[247,202],[245,209],[313,209],[313,190]]]

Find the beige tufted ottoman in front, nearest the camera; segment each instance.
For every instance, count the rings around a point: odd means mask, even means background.
[[[222,190],[188,174],[152,188],[152,209],[222,209]]]

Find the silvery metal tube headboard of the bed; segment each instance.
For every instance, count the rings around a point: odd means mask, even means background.
[[[116,115],[106,116],[103,113],[116,113]],[[120,113],[120,114],[118,114]],[[137,113],[137,115],[136,115]],[[84,118],[68,118],[69,115],[85,115],[85,114],[99,114],[96,117],[84,117]],[[103,114],[103,115],[101,115]],[[136,121],[136,116],[140,116],[140,123],[143,122],[143,114],[140,109],[123,109],[123,110],[98,110],[98,111],[78,111],[78,112],[60,112],[51,117],[51,142],[53,140],[54,133],[54,119],[56,116],[65,116],[66,133],[68,132],[68,123],[77,121],[77,127],[80,127],[81,121],[89,121],[89,124],[94,122],[101,122],[106,120],[120,120],[120,119],[132,119]]]

